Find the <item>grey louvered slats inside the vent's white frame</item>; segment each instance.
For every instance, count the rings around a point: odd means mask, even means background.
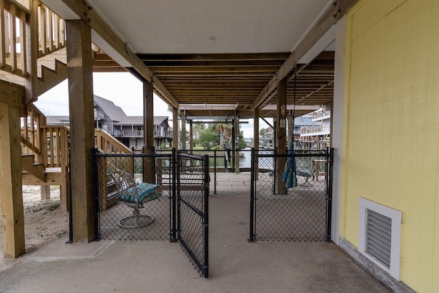
[[[392,219],[367,209],[366,253],[390,268],[392,249]]]

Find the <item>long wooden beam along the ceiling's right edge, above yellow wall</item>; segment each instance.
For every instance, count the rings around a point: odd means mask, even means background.
[[[281,68],[272,77],[270,82],[259,93],[257,99],[252,104],[252,109],[260,106],[265,98],[276,89],[279,80],[283,80],[296,66],[297,61],[300,60],[313,45],[315,45],[320,38],[335,24],[339,19],[346,14],[347,10],[352,7],[357,0],[338,0],[335,5],[331,5],[331,8],[320,17],[320,19],[313,25],[307,36],[303,38],[302,42],[296,47],[294,52],[285,60]]]

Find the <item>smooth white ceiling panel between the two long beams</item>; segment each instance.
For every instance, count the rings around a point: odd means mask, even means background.
[[[88,0],[135,53],[292,51],[332,0]]]

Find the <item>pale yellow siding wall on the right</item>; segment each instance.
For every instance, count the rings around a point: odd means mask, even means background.
[[[342,217],[403,212],[401,281],[439,292],[439,0],[363,0],[346,15]]]

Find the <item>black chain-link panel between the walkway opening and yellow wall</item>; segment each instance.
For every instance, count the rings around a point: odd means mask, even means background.
[[[275,170],[288,158],[298,185],[285,190]],[[249,241],[329,241],[332,162],[333,149],[287,155],[253,150]]]

